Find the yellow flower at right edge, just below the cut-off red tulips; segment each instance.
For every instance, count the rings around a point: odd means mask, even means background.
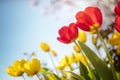
[[[120,45],[120,33],[115,32],[112,38],[108,39],[108,43],[111,45]]]

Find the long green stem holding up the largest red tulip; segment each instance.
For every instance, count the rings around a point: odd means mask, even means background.
[[[105,44],[105,42],[104,42],[104,40],[103,40],[103,38],[102,38],[102,36],[101,36],[101,34],[99,33],[98,30],[97,30],[97,35],[98,35],[98,37],[99,37],[99,39],[100,39],[100,41],[102,43],[102,46],[103,46],[103,48],[104,48],[104,50],[106,52],[106,55],[108,57],[108,60],[109,60],[109,63],[110,63],[110,69],[111,69],[111,71],[112,71],[112,73],[114,75],[114,79],[117,80],[117,75],[116,75],[116,72],[115,72],[115,67],[114,67],[114,64],[113,64],[113,61],[112,61],[109,49],[107,48],[107,46],[106,46],[106,44]]]

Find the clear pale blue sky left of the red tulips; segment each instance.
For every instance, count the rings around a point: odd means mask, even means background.
[[[42,41],[48,42],[53,49],[56,49],[60,57],[65,53],[69,54],[72,47],[58,42],[56,37],[58,29],[68,25],[71,18],[65,16],[64,11],[58,14],[58,16],[64,15],[58,21],[55,19],[57,15],[42,15],[40,10],[48,3],[49,0],[43,1],[36,10],[32,10],[30,3],[26,0],[0,1],[1,80],[19,80],[9,76],[5,69],[15,60],[24,58],[24,52],[29,54],[36,52],[41,62],[48,62],[49,66],[52,66],[48,54],[39,49]]]

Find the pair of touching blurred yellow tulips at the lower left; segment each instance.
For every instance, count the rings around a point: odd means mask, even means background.
[[[38,59],[34,58],[31,61],[22,59],[15,61],[6,71],[9,75],[16,77],[22,76],[23,73],[26,73],[28,76],[33,76],[40,71],[40,68],[41,64]]]

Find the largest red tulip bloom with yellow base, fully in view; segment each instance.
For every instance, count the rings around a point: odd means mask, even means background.
[[[102,13],[97,7],[87,7],[76,14],[77,26],[84,31],[95,32],[102,24]]]

